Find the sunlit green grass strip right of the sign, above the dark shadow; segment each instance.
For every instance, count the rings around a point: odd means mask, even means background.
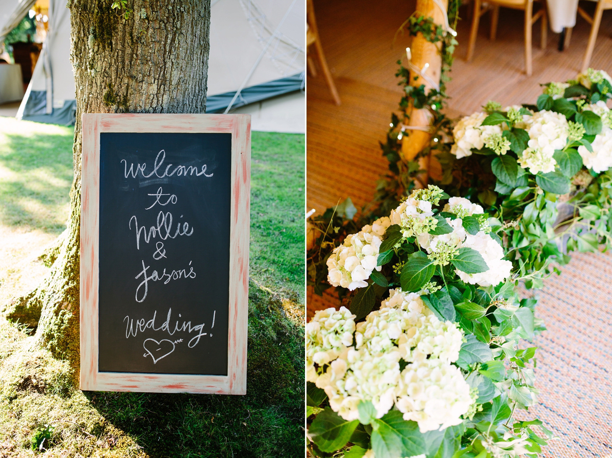
[[[272,290],[297,292],[300,302],[304,302],[304,152],[304,135],[253,132],[250,271]]]

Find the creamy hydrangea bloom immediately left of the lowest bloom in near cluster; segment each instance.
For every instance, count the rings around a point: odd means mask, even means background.
[[[351,347],[346,359],[338,366],[335,374],[327,370],[321,375],[316,386],[324,389],[329,406],[342,418],[347,421],[358,419],[357,407],[362,401],[371,401],[376,418],[381,418],[393,407],[395,387],[400,379],[399,351],[371,355],[365,347],[359,350]]]

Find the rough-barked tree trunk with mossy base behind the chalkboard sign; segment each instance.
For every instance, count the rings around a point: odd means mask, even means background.
[[[10,306],[35,345],[76,369],[79,358],[81,114],[204,113],[210,0],[72,0],[76,83],[70,217],[50,274]],[[117,7],[118,6],[118,7]],[[75,376],[78,370],[75,370]]]

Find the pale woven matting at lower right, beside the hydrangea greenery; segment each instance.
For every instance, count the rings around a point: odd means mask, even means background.
[[[612,457],[612,253],[573,255],[539,298],[539,404],[521,418],[540,418],[559,437],[542,457]]]

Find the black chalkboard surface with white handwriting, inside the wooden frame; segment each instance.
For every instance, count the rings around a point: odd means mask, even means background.
[[[230,133],[100,133],[100,372],[227,374],[230,166]]]

